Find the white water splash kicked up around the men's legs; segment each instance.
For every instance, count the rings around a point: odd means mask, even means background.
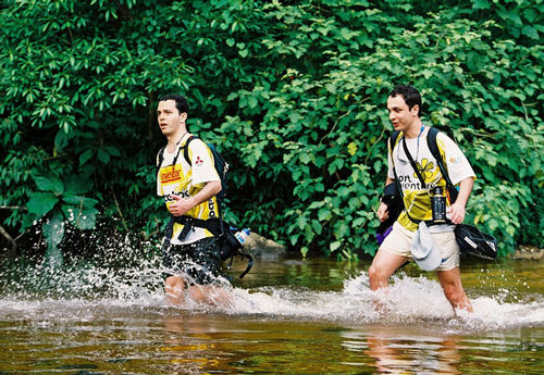
[[[366,272],[347,278],[341,290],[314,290],[299,285],[236,288],[223,284],[221,292],[228,296],[228,303],[202,304],[189,298],[185,305],[174,308],[164,301],[165,270],[159,257],[143,258],[136,263],[127,261],[127,266],[119,266],[119,258],[115,250],[100,254],[100,262],[76,261],[61,268],[38,263],[1,271],[0,317],[85,321],[120,310],[136,310],[161,315],[180,311],[264,320],[422,324],[453,330],[544,325],[541,295],[524,302],[524,298],[512,296],[515,292],[508,289],[498,289],[498,297],[471,296],[474,312],[469,314],[454,311],[436,280],[399,274],[393,277],[390,288],[374,292]],[[387,313],[381,313],[376,302]]]

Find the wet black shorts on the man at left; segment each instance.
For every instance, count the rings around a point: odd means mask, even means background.
[[[212,284],[221,275],[221,251],[215,237],[187,245],[169,245],[162,253],[165,277],[184,273],[194,284]]]

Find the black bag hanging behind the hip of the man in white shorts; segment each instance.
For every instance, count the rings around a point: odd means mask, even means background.
[[[455,227],[455,239],[462,252],[483,259],[497,258],[497,240],[481,233],[475,226],[458,224]]]

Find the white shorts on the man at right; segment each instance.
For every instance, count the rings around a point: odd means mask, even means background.
[[[411,241],[416,232],[406,229],[395,222],[393,230],[380,246],[379,250],[394,253],[395,255],[411,259]],[[442,263],[436,271],[448,271],[459,266],[459,246],[455,239],[455,233],[431,233],[436,247],[442,253]]]

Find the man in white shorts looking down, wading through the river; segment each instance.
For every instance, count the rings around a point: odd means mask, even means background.
[[[411,258],[412,239],[419,222],[432,221],[431,195],[429,189],[442,187],[446,191],[446,182],[428,147],[429,127],[420,118],[421,95],[411,86],[397,86],[387,99],[387,111],[399,137],[388,152],[388,172],[385,185],[398,183],[403,190],[405,210],[393,225],[393,230],[380,246],[369,268],[372,290],[387,287],[390,276]],[[403,145],[405,142],[405,145]],[[447,199],[446,212],[450,223],[430,226],[432,238],[441,252],[441,263],[436,275],[444,293],[454,309],[472,311],[461,284],[459,271],[459,247],[455,239],[455,224],[462,223],[465,207],[474,184],[474,172],[459,147],[445,134],[438,133],[436,143],[445,162],[449,178],[458,186],[458,197],[454,203]],[[397,146],[403,147],[397,147]],[[406,147],[406,148],[405,148]],[[411,155],[424,185],[420,183],[409,161]],[[381,203],[378,210],[381,222],[388,217],[388,208]]]

